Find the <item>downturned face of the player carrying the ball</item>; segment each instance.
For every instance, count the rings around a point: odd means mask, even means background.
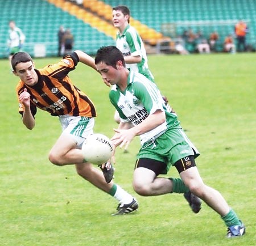
[[[122,63],[122,62],[121,62]],[[113,86],[113,84],[118,84],[121,73],[119,69],[114,69],[114,67],[106,65],[105,62],[100,62],[96,64],[97,70],[100,72],[104,83],[109,83]]]

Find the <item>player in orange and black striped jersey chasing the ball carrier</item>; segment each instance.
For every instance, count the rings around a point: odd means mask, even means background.
[[[119,201],[117,214],[130,213],[138,209],[135,198],[114,184],[113,180],[106,183],[100,169],[86,162],[82,155],[81,145],[93,133],[96,109],[92,100],[68,77],[68,73],[75,70],[78,62],[96,69],[93,58],[80,50],[43,69],[35,69],[32,58],[26,52],[14,54],[11,65],[14,74],[20,78],[16,94],[22,122],[28,129],[33,129],[37,108],[58,116],[63,133],[52,147],[49,160],[57,166],[75,163],[81,177]],[[125,209],[120,211],[119,207]]]

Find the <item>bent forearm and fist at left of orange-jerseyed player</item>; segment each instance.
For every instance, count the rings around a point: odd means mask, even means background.
[[[32,130],[35,127],[35,118],[30,110],[30,94],[26,88],[19,95],[19,101],[23,105],[22,122],[27,129]]]

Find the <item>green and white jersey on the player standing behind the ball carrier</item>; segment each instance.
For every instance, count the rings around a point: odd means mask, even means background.
[[[128,25],[122,35],[120,35],[119,32],[117,33],[116,46],[121,50],[123,56],[141,56],[142,61],[140,63],[126,64],[126,67],[143,74],[154,82],[154,77],[148,69],[147,54],[144,44],[134,27]]]

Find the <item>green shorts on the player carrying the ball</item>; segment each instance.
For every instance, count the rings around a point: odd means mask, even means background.
[[[161,173],[166,174],[171,166],[188,155],[193,155],[196,158],[200,153],[189,141],[182,128],[172,128],[160,137],[144,143],[139,150],[137,159],[149,158],[166,163],[166,170]]]

